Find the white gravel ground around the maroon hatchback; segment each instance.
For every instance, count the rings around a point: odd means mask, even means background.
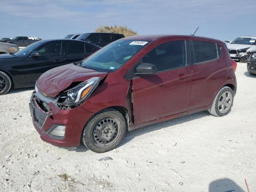
[[[256,76],[238,64],[236,77],[227,116],[148,126],[104,154],[42,142],[28,107],[33,88],[12,90],[0,96],[0,191],[247,192],[246,179],[256,192]]]

